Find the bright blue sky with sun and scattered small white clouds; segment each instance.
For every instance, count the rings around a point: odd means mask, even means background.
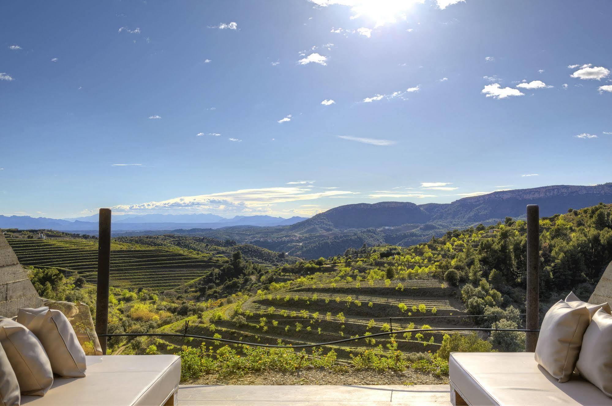
[[[0,214],[311,216],[612,180],[610,1],[0,10]]]

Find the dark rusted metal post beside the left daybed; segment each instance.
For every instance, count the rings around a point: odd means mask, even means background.
[[[95,295],[95,333],[108,333],[108,286],[111,268],[111,209],[100,209],[98,223],[98,284]],[[106,355],[106,337],[99,337]]]

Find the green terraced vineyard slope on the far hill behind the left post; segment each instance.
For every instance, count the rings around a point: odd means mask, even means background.
[[[95,283],[97,242],[80,239],[35,240],[11,238],[10,246],[22,265],[74,271]],[[111,246],[111,285],[171,290],[206,275],[220,262],[165,249],[123,244]]]

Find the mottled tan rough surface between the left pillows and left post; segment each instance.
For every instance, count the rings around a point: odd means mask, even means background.
[[[52,310],[64,313],[76,333],[85,355],[102,355],[102,347],[97,334],[95,334],[94,320],[91,318],[89,306],[81,301],[55,301],[43,299],[43,304]]]

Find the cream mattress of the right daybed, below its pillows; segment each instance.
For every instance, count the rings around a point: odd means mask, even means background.
[[[530,352],[453,352],[449,379],[469,405],[612,405],[588,381],[559,383]]]

